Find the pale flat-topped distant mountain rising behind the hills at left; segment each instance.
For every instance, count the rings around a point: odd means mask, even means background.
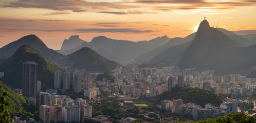
[[[83,43],[87,43],[84,40],[79,38],[79,35],[72,35],[71,37],[69,37],[68,39],[65,39],[62,43],[61,46],[61,51],[64,50],[70,50],[70,49],[74,49],[80,45],[82,45]]]

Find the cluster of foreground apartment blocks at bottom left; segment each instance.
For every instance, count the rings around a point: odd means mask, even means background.
[[[39,117],[43,122],[83,122],[83,117],[92,117],[93,107],[86,100],[73,100],[65,95],[38,94]]]

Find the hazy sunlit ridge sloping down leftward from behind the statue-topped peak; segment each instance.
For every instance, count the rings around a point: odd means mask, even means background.
[[[147,61],[151,60],[151,62],[152,61],[155,62],[156,61],[155,59],[158,59],[157,58],[158,54],[160,54],[164,50],[167,50],[171,47],[191,42],[192,40],[194,40],[195,35],[196,35],[196,32],[194,32],[194,33],[192,33],[192,34],[190,34],[190,35],[188,35],[184,38],[181,38],[181,37],[172,38],[172,39],[169,40],[168,43],[166,43],[166,44],[164,44],[164,45],[162,45],[162,46],[160,46],[156,49],[153,49],[152,51],[149,51],[147,53],[144,53],[144,54],[138,56],[137,58],[135,58],[135,60],[136,61],[142,61],[142,62],[147,62]],[[156,57],[156,58],[154,58],[154,57]]]

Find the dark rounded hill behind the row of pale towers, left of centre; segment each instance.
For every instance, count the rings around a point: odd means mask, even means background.
[[[102,71],[111,73],[119,64],[99,55],[96,51],[84,47],[66,56],[69,68],[85,69],[86,71]]]

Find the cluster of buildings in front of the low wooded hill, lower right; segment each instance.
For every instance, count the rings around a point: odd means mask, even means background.
[[[207,118],[213,118],[228,114],[229,112],[237,112],[237,101],[234,99],[225,99],[224,103],[220,107],[214,107],[210,104],[206,104],[205,108],[192,103],[183,104],[181,99],[162,100],[159,108],[167,110],[169,113],[179,114],[185,116],[189,114],[193,120],[198,121],[200,119],[205,120]]]

